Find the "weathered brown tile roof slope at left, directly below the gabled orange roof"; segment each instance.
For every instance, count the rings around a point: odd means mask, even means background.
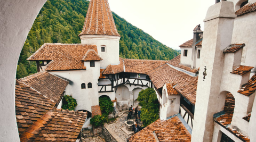
[[[32,74],[20,80],[50,98],[55,103],[61,99],[61,95],[69,83],[46,71]]]

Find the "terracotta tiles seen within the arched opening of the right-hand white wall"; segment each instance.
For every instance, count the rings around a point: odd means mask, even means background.
[[[224,115],[219,116],[216,120],[221,123],[223,126],[228,126],[231,123],[233,118],[235,108],[235,98],[231,93],[227,93],[225,106],[224,106]]]

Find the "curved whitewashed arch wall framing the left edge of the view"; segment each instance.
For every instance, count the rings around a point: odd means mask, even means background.
[[[0,1],[0,140],[19,141],[15,118],[15,76],[28,32],[46,0]]]

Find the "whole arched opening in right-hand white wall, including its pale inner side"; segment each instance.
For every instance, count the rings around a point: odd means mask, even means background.
[[[231,123],[233,118],[233,113],[235,110],[235,97],[229,91],[222,91],[219,95],[219,112],[222,111],[223,115],[217,116],[217,121],[223,126],[227,126]]]

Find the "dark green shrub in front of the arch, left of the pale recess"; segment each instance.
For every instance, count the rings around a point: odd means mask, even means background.
[[[100,96],[99,105],[102,115],[108,115],[110,112],[113,112],[114,103],[108,96]]]

